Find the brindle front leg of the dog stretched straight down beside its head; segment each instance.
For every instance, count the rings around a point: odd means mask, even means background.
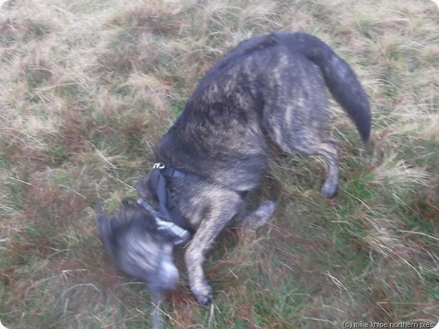
[[[219,232],[223,230],[238,210],[234,202],[224,203],[207,214],[185,252],[185,263],[188,269],[189,285],[199,304],[206,306],[212,300],[212,287],[207,283],[203,272],[204,256]]]

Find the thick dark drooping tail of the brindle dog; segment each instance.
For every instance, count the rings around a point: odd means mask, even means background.
[[[326,43],[311,34],[297,32],[284,36],[290,39],[287,44],[294,51],[299,51],[319,67],[330,93],[357,125],[363,143],[367,144],[371,121],[368,96],[348,63],[339,58]]]

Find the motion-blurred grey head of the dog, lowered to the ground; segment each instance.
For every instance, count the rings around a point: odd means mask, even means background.
[[[153,211],[153,210],[151,210]],[[172,260],[175,242],[159,232],[155,216],[135,199],[126,198],[113,215],[95,210],[100,234],[122,271],[146,282],[155,292],[175,288],[179,273]]]

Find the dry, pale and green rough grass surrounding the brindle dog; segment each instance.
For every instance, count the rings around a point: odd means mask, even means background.
[[[303,30],[359,75],[363,148],[342,144],[335,199],[322,160],[276,156],[255,193],[279,210],[207,256],[214,302],[181,285],[167,328],[341,328],[438,321],[439,34],[432,1],[8,1],[0,11],[0,320],[7,328],[150,328],[150,295],[104,252],[91,207],[114,209],[206,71],[241,40]]]

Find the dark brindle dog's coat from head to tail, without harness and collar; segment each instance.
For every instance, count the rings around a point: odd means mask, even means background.
[[[185,263],[200,304],[212,299],[202,264],[218,233],[232,221],[258,228],[273,215],[275,204],[269,201],[254,212],[245,210],[245,191],[254,189],[267,169],[267,138],[288,153],[323,156],[321,193],[336,194],[339,147],[325,134],[325,86],[367,143],[371,114],[356,75],[328,45],[305,33],[272,33],[238,45],[207,73],[159,143],[157,160],[194,174],[170,178],[168,186],[196,230]],[[157,206],[148,176],[139,180],[137,193]],[[122,226],[98,217],[104,242],[124,271],[157,291],[177,284],[172,244],[148,227],[154,226],[148,211],[124,200],[112,220]]]

